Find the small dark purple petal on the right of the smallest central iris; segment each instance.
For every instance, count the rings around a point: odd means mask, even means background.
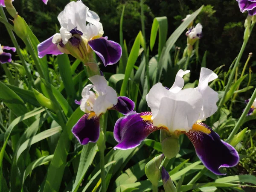
[[[113,110],[119,111],[120,113],[126,115],[127,113],[134,111],[135,103],[125,96],[117,97],[116,105],[113,105]]]

